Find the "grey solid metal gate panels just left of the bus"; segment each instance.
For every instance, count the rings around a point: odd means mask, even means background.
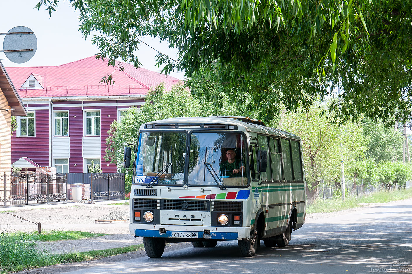
[[[91,202],[124,200],[124,173],[90,173]]]

